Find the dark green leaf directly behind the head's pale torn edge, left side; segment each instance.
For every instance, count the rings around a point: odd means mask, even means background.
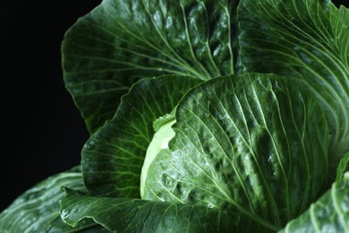
[[[199,83],[186,76],[164,76],[132,86],[114,118],[82,150],[89,194],[140,197],[140,171],[153,136],[153,121],[172,111],[183,94]]]

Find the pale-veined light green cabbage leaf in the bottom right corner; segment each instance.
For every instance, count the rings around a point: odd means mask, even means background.
[[[349,232],[349,173],[281,232]]]

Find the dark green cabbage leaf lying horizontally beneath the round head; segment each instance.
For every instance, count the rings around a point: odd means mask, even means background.
[[[267,232],[239,214],[181,203],[84,196],[66,190],[62,219],[75,226],[91,218],[113,232]]]

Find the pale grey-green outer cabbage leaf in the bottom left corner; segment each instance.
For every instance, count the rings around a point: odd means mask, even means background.
[[[60,173],[21,194],[0,213],[0,232],[104,232],[91,220],[83,220],[76,228],[60,218],[59,201],[62,186],[84,191],[81,167]]]

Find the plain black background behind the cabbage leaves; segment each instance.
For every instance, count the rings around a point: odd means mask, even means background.
[[[64,89],[60,44],[72,23],[99,3],[0,6],[0,211],[42,179],[80,163],[88,133]]]

